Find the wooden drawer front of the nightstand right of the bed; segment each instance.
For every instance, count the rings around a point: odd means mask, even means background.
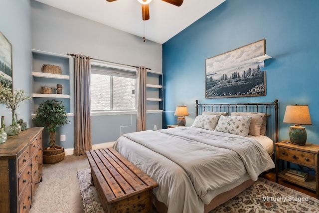
[[[283,147],[278,147],[277,156],[279,159],[289,161],[296,164],[303,164],[310,167],[315,167],[315,154],[303,152]]]

